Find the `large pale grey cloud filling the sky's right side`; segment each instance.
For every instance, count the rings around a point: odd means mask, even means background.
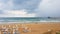
[[[60,17],[60,0],[42,0],[36,11],[39,17]]]

